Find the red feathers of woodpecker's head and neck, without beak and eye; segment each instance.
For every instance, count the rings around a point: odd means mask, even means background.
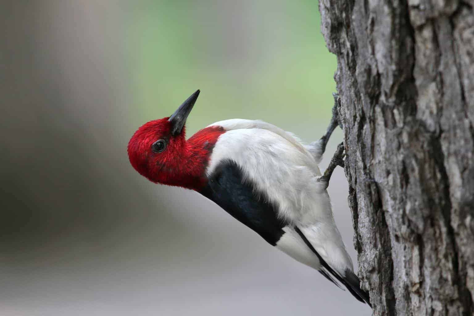
[[[128,144],[130,163],[150,181],[200,191],[207,184],[206,168],[212,149],[225,130],[220,126],[206,127],[186,141],[184,130],[181,135],[171,136],[166,125],[164,118],[138,129]],[[167,148],[153,153],[151,144],[160,138],[167,138]]]

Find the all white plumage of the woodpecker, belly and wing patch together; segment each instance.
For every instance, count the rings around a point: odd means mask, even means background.
[[[224,127],[214,146],[207,174],[219,163],[232,160],[243,173],[277,205],[278,216],[291,227],[297,225],[321,257],[334,269],[353,270],[332,216],[331,203],[313,153],[297,138],[262,121],[231,119],[212,125]],[[319,154],[320,157],[320,154]],[[318,258],[289,227],[277,248],[299,262],[320,268]]]

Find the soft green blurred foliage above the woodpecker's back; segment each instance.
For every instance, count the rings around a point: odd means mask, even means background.
[[[310,128],[325,126],[330,116],[336,58],[320,34],[317,6],[315,1],[134,6],[125,41],[133,121],[169,116],[201,89],[189,135],[214,121],[250,118],[307,140],[319,136],[314,133],[321,128]]]

